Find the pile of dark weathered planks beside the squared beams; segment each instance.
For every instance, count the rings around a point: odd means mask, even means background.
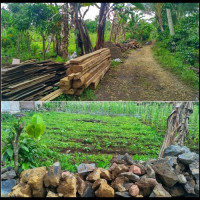
[[[2,69],[2,99],[35,101],[53,91],[65,77],[69,63],[26,61]]]

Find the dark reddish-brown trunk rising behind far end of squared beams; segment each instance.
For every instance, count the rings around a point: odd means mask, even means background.
[[[109,3],[101,3],[101,8],[99,12],[99,25],[97,29],[97,42],[96,50],[101,49],[104,46],[104,32],[106,26],[106,15],[109,9]]]

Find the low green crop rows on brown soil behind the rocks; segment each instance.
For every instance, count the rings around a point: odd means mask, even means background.
[[[32,114],[27,113],[27,124]],[[94,116],[48,112],[42,114],[46,131],[38,144],[35,166],[49,166],[60,161],[62,168],[75,171],[82,162],[96,162],[107,167],[113,154],[128,152],[133,158],[146,160],[158,156],[164,133],[133,117]],[[13,123],[3,115],[2,139]],[[25,134],[25,133],[24,133]]]

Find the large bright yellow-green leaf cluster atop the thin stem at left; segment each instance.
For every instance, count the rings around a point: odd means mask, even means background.
[[[34,114],[31,123],[26,127],[27,134],[35,139],[40,139],[41,135],[44,133],[45,123],[40,114]]]

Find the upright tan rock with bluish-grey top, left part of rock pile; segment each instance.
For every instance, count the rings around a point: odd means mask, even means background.
[[[49,167],[48,173],[44,176],[45,187],[57,187],[61,178],[61,166],[59,162]]]

